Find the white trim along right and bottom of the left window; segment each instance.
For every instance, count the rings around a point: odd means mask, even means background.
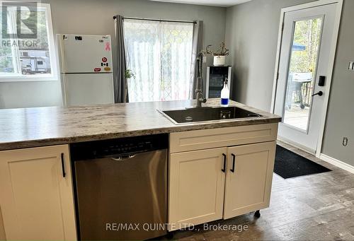
[[[42,74],[40,76],[18,76],[13,74],[8,74],[8,76],[0,76],[0,82],[30,82],[30,81],[59,81],[58,65],[57,65],[57,52],[55,51],[55,42],[53,34],[52,25],[52,10],[50,4],[38,3],[38,7],[46,8],[47,12],[47,33],[49,42],[49,53],[50,53],[50,67],[52,74]],[[16,75],[16,76],[15,76]]]

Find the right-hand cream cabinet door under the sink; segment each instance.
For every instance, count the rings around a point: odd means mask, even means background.
[[[269,206],[275,141],[227,148],[224,219]]]

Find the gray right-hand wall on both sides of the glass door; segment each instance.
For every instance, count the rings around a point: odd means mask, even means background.
[[[233,98],[269,111],[280,9],[311,0],[253,0],[227,8],[226,43],[234,66]],[[345,0],[322,152],[354,165],[354,1]],[[343,136],[349,144],[342,146]]]

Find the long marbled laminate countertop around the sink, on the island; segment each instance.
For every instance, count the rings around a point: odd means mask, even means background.
[[[281,121],[275,114],[234,101],[230,101],[229,106],[241,107],[263,117],[173,124],[157,111],[194,106],[195,100],[183,100],[0,110],[0,150]],[[209,99],[203,106],[219,106],[219,99]]]

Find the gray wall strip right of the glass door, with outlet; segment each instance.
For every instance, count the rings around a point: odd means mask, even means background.
[[[354,1],[345,0],[322,152],[354,166],[354,71],[348,70],[349,61],[354,61],[353,23]],[[348,146],[343,146],[343,136]]]

